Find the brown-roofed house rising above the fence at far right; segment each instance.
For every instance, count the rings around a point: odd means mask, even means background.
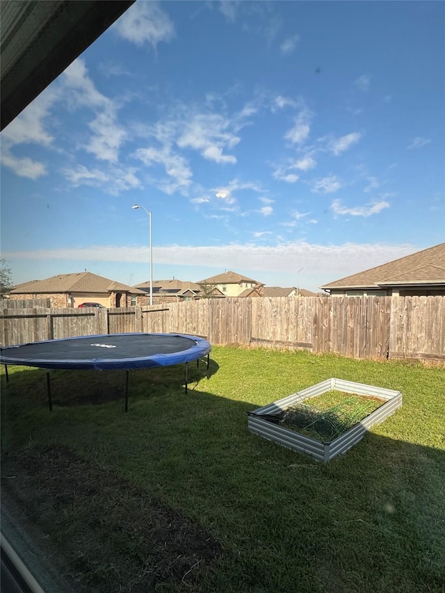
[[[320,286],[332,296],[445,295],[445,243]]]

